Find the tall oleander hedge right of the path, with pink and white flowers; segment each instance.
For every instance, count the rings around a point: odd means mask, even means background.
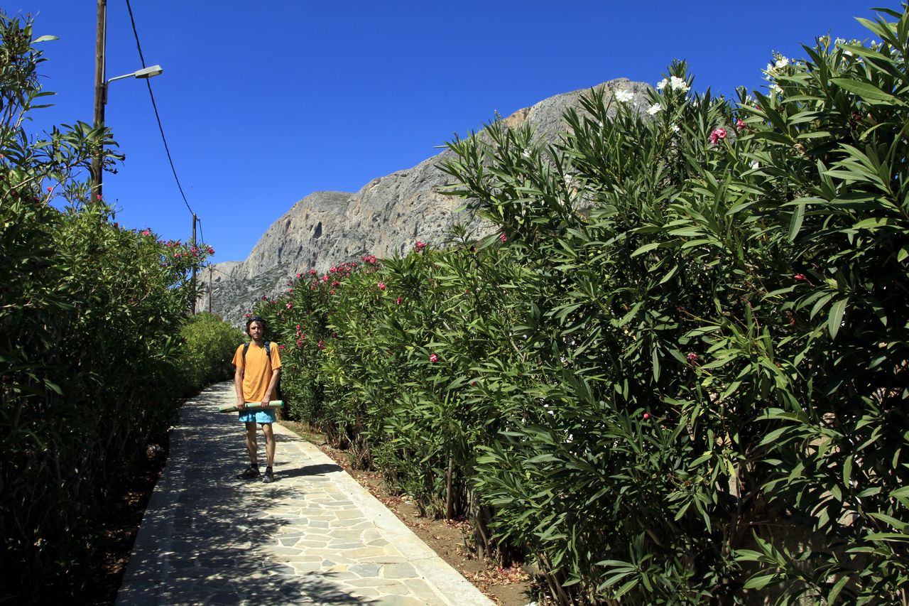
[[[863,23],[450,143],[498,234],[263,302],[291,411],[558,603],[904,603],[909,14]]]

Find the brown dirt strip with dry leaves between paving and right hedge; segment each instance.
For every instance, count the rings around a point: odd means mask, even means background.
[[[489,599],[502,606],[524,606],[533,601],[530,593],[532,580],[523,568],[517,565],[501,568],[494,561],[476,558],[474,551],[469,548],[467,539],[471,534],[469,522],[422,517],[419,508],[406,496],[396,495],[388,490],[380,473],[353,469],[345,450],[329,446],[323,435],[309,429],[305,423],[288,420],[282,420],[280,423],[335,460],[354,480],[392,510],[395,516],[413,530],[430,549]]]

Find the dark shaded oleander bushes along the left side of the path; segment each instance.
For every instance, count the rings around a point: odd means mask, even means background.
[[[50,95],[36,46],[48,37],[0,14],[0,601],[10,603],[75,599],[104,540],[105,501],[163,438],[185,389],[215,377],[192,365],[225,340],[211,318],[185,326],[191,269],[211,249],[119,227],[80,181],[99,142],[115,145],[109,131],[25,132]],[[117,156],[106,151],[109,166]],[[223,372],[223,359],[215,366]]]

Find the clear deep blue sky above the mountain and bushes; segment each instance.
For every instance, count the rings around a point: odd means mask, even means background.
[[[215,261],[243,260],[278,217],[319,190],[355,192],[547,96],[615,77],[655,84],[686,59],[694,88],[762,86],[776,50],[830,33],[871,39],[864,2],[630,0],[132,0],[178,177]],[[95,2],[6,0],[36,14],[55,106],[26,126],[91,122]],[[140,67],[125,0],[108,0],[107,76]],[[105,197],[125,227],[188,239],[192,220],[148,90],[110,86],[107,125],[125,153]]]

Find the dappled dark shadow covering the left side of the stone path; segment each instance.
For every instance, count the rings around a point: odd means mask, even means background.
[[[181,409],[117,603],[374,603],[352,595],[331,571],[300,573],[266,555],[287,523],[267,512],[297,490],[235,479],[248,464],[243,433],[235,416],[216,409],[232,389],[213,386]],[[342,468],[308,465],[282,475],[336,470]]]

